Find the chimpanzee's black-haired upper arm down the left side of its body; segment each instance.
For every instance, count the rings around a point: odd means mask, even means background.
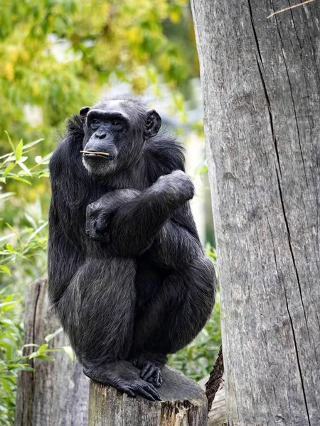
[[[80,212],[77,205],[79,194],[85,192],[79,183],[82,180],[76,174],[81,170],[76,167],[76,161],[80,162],[81,158],[73,159],[73,145],[71,141],[68,143],[68,139],[64,140],[50,160],[52,197],[49,209],[48,292],[53,305],[60,300],[73,275],[85,261],[87,246],[83,229],[85,212],[84,208]]]

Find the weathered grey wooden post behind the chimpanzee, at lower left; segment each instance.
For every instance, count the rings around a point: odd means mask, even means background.
[[[44,344],[44,338],[61,327],[48,312],[44,280],[28,288],[24,327],[24,344]],[[50,341],[50,347],[68,345],[63,333]],[[26,348],[26,353],[34,350]],[[87,426],[89,379],[65,352],[55,352],[53,357],[55,361],[31,359],[35,371],[19,373],[15,426]]]

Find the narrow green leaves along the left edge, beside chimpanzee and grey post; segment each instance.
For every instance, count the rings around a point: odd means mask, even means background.
[[[33,167],[28,168],[26,160],[34,147],[41,141],[33,141],[23,146],[21,140],[16,146],[8,136],[9,144],[13,151],[0,157],[0,182],[6,184],[14,180],[19,185],[32,185],[33,179],[48,178],[48,160],[38,157]],[[40,166],[40,168],[39,168]],[[27,212],[25,207],[18,209],[19,199],[14,192],[0,194],[1,214],[0,220],[6,228],[0,237],[0,424],[12,425],[16,402],[16,378],[18,371],[33,371],[28,364],[30,359],[43,359],[53,361],[48,353],[64,350],[73,360],[70,346],[63,348],[48,348],[48,342],[58,332],[46,337],[46,343],[41,346],[30,343],[35,350],[28,355],[23,354],[22,336],[23,320],[23,287],[28,277],[37,278],[46,268],[46,243],[48,239],[48,221],[42,214]],[[22,207],[22,206],[21,206]],[[15,212],[15,228],[6,222],[5,216]],[[21,222],[20,222],[21,221]],[[17,226],[18,225],[18,226]]]

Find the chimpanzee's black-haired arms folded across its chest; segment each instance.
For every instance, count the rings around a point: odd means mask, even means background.
[[[119,256],[151,248],[151,260],[178,268],[202,251],[186,204],[193,194],[193,183],[181,170],[161,176],[142,192],[115,190],[87,207],[87,234],[111,244]]]

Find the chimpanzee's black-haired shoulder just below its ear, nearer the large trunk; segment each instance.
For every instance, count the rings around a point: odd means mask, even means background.
[[[161,131],[146,141],[146,161],[151,180],[168,175],[174,170],[184,172],[184,151],[177,138],[166,131]]]

